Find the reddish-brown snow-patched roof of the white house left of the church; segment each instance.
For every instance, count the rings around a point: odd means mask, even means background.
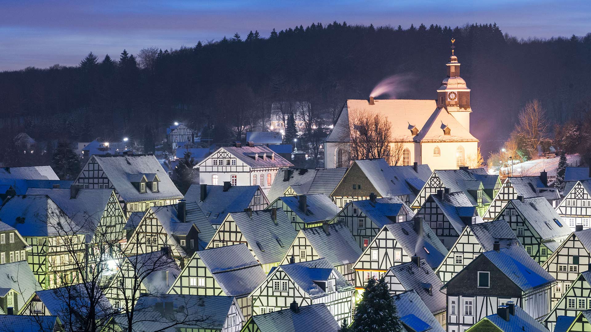
[[[227,151],[229,154],[238,158],[246,165],[252,168],[264,168],[264,167],[292,167],[291,162],[285,160],[281,155],[276,154],[273,150],[265,147],[264,145],[255,145],[254,147],[223,147],[217,149],[214,154],[219,151]],[[258,155],[258,158],[255,158]],[[264,158],[263,156],[266,155]],[[271,158],[272,156],[272,158]],[[197,166],[200,166],[197,164]]]

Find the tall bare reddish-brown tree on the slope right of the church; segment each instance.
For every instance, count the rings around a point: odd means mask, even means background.
[[[525,148],[531,158],[537,157],[538,145],[543,141],[548,129],[546,111],[539,100],[534,99],[525,104],[519,112],[519,123],[515,131],[525,141]]]

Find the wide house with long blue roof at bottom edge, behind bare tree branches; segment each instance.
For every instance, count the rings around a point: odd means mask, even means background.
[[[139,297],[131,330],[239,332],[244,321],[233,297],[161,294]],[[128,331],[128,325],[126,315],[115,315],[105,332]]]

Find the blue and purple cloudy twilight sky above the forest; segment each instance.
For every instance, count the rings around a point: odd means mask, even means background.
[[[589,0],[0,0],[0,71],[76,65],[92,51],[178,48],[311,22],[464,25],[496,22],[518,38],[591,32]]]

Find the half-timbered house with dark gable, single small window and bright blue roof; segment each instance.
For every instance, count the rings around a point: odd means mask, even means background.
[[[443,286],[447,289],[447,331],[465,331],[508,301],[537,320],[550,312],[555,279],[520,246],[493,247]]]

